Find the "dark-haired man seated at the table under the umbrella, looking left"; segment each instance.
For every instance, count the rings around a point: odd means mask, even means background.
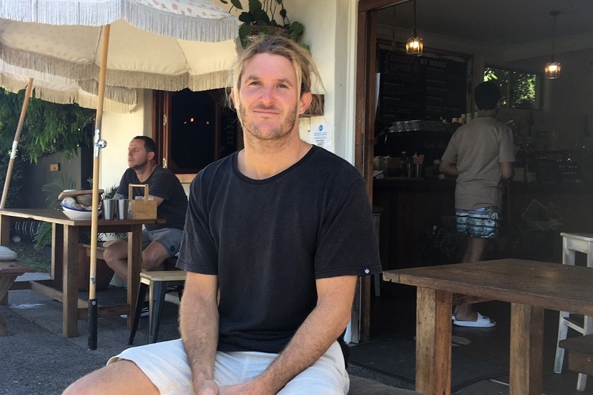
[[[157,165],[157,144],[146,136],[136,136],[128,147],[128,170],[118,186],[115,199],[143,196],[144,188],[133,188],[128,196],[128,185],[148,184],[149,195],[157,201],[157,218],[164,224],[142,227],[142,268],[164,270],[166,258],[175,256],[181,246],[181,234],[187,210],[187,195],[179,179],[171,171]],[[128,282],[128,239],[109,244],[103,253],[113,271]]]

